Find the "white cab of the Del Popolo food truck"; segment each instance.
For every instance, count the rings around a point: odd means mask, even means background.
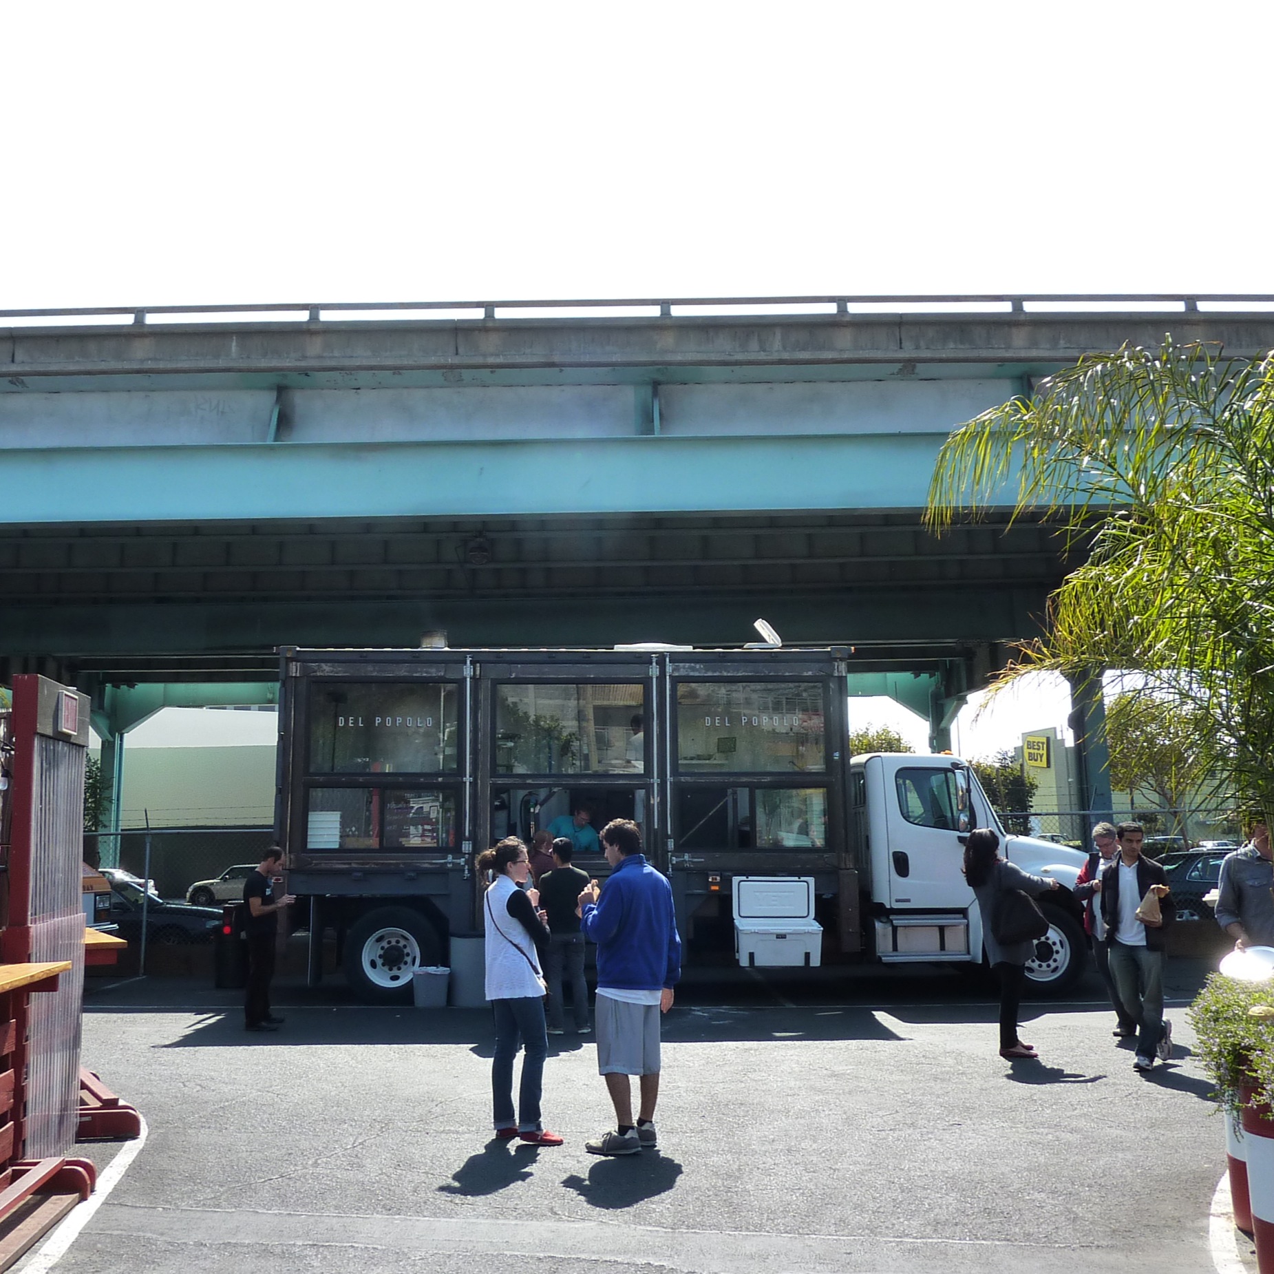
[[[959,758],[855,756],[850,810],[866,904],[864,939],[874,940],[879,960],[982,962],[981,916],[962,867],[968,833],[991,828],[1010,862],[1063,886],[1041,899],[1049,934],[1036,944],[1028,979],[1038,990],[1060,993],[1080,976],[1087,942],[1071,890],[1085,856],[1049,840],[1006,835],[977,777]]]

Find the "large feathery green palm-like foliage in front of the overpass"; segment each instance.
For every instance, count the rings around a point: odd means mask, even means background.
[[[1004,505],[1085,553],[1008,676],[1140,673],[1131,692],[1274,811],[1274,355],[1125,346],[984,412],[944,444],[929,518]]]

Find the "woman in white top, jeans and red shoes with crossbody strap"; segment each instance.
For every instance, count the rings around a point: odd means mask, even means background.
[[[562,1138],[540,1122],[540,1087],[549,1037],[544,1024],[544,976],[540,949],[549,931],[543,912],[536,913],[536,890],[521,890],[530,871],[530,854],[517,837],[507,837],[494,849],[478,856],[478,870],[494,880],[483,898],[487,934],[487,999],[496,1014],[496,1055],[490,1062],[490,1090],[496,1136],[520,1136],[535,1145],[561,1145]],[[513,1115],[513,1058],[519,1047],[522,1081]]]

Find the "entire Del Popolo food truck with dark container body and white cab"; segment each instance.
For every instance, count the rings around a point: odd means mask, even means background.
[[[956,756],[848,755],[848,657],[284,649],[276,834],[311,981],[335,931],[361,997],[410,999],[414,970],[480,927],[478,851],[568,831],[604,882],[594,833],[615,817],[671,880],[687,963],[977,965],[963,843],[999,819]],[[1061,993],[1087,959],[1084,856],[1000,830],[1063,886],[1027,965]]]

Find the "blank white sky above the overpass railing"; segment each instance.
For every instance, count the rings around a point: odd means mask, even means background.
[[[4,23],[0,306],[1274,292],[1268,3]]]

